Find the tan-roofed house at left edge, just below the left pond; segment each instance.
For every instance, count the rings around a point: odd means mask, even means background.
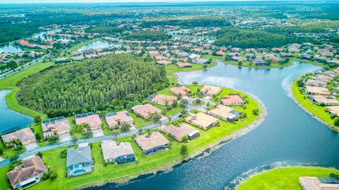
[[[36,141],[35,135],[32,132],[32,130],[30,130],[30,128],[20,129],[13,133],[8,133],[6,135],[1,136],[1,138],[2,141],[4,141],[4,143],[10,143],[19,140],[23,146]]]

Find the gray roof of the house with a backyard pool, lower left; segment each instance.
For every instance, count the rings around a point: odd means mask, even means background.
[[[66,167],[84,162],[92,162],[92,155],[90,155],[90,146],[85,146],[78,149],[71,147],[67,149]]]

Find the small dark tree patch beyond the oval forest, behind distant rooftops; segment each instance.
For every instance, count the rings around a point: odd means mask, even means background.
[[[124,36],[124,39],[126,40],[146,40],[146,41],[168,40],[169,38],[171,38],[171,35],[167,35],[166,32],[161,31],[138,31]]]

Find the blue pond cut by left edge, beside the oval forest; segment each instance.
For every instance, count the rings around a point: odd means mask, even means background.
[[[16,131],[33,123],[32,117],[9,109],[5,97],[11,90],[0,91],[0,133]]]

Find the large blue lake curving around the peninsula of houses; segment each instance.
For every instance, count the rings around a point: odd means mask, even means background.
[[[124,186],[106,184],[89,189],[234,189],[240,177],[274,166],[339,168],[339,134],[304,112],[289,97],[295,78],[319,69],[310,64],[270,70],[239,69],[221,63],[208,71],[179,73],[180,83],[198,81],[256,95],[266,105],[265,121],[210,155],[191,160],[172,172],[141,177]]]

